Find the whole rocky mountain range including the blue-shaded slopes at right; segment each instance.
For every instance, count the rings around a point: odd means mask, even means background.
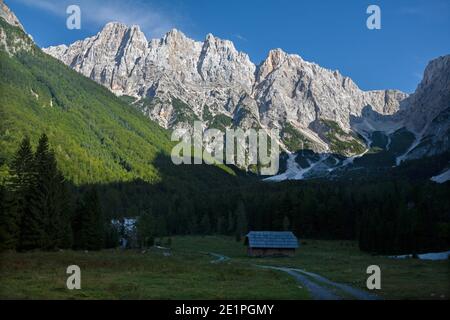
[[[1,16],[23,30],[2,8]],[[0,32],[0,43],[13,54],[17,46],[6,45]],[[196,41],[174,29],[148,40],[139,26],[118,22],[43,51],[164,129],[190,129],[195,120],[218,129],[279,129],[273,138],[286,155],[280,175],[271,180],[391,167],[450,149],[450,55],[431,61],[408,95],[363,91],[339,71],[281,49],[257,65],[212,34]]]

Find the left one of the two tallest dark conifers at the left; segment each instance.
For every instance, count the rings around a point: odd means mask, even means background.
[[[30,139],[25,137],[10,168],[9,188],[12,194],[10,213],[20,229],[18,250],[41,248],[43,244],[42,217],[32,210],[36,189],[36,168]]]

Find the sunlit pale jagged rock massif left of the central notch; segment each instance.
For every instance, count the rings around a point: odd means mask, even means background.
[[[44,51],[117,95],[157,98],[149,116],[164,127],[174,124],[174,98],[199,117],[204,106],[231,116],[254,84],[249,57],[213,35],[198,42],[172,30],[148,41],[137,26],[109,23],[94,37]]]

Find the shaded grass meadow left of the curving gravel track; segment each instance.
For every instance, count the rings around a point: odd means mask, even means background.
[[[180,240],[181,241],[181,240]],[[178,239],[177,239],[178,242]],[[213,264],[198,251],[4,253],[1,299],[306,299],[288,275],[250,265]],[[66,289],[66,268],[81,268],[81,290]]]

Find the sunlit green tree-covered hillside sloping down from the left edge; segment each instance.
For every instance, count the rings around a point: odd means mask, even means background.
[[[0,46],[1,172],[25,135],[36,143],[45,132],[61,171],[76,185],[161,181],[157,166],[171,165],[174,145],[167,130],[43,53],[2,18],[0,29],[8,42]],[[233,174],[216,171],[223,170]]]

